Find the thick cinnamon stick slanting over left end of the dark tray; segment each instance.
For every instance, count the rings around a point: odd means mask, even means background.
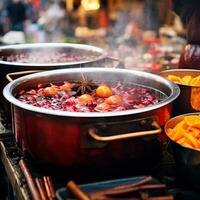
[[[90,200],[89,196],[85,194],[74,181],[67,183],[69,191],[79,200]]]

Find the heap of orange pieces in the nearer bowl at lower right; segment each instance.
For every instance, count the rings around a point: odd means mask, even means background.
[[[200,150],[200,115],[185,116],[167,135],[182,146]]]

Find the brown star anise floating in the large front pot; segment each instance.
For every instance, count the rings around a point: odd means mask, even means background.
[[[77,94],[82,95],[92,92],[97,87],[98,85],[92,80],[82,79],[75,82],[73,89],[77,92]]]

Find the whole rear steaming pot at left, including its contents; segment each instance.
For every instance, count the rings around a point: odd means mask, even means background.
[[[104,67],[106,62],[112,67],[117,67],[119,64],[117,58],[109,57],[102,48],[85,44],[35,43],[2,46],[0,47],[0,112],[2,111],[6,121],[11,123],[10,105],[2,94],[4,86],[8,83],[7,74],[19,77],[24,71]]]

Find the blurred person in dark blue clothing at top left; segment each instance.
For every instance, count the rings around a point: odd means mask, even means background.
[[[23,31],[26,20],[26,8],[21,0],[13,0],[8,4],[6,11],[10,23],[10,30]]]

